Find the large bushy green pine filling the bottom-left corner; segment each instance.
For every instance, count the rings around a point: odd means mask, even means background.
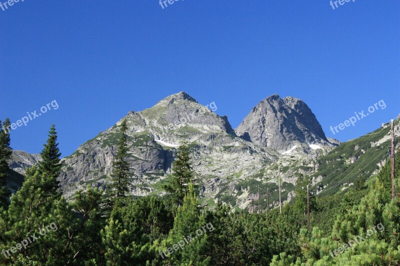
[[[71,203],[63,197],[49,199],[45,175],[36,165],[27,169],[9,209],[0,213],[0,251],[4,252],[0,265],[96,265],[103,227],[101,191],[76,192]],[[29,236],[26,249],[10,249]]]

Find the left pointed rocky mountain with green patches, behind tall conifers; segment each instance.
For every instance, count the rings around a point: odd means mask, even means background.
[[[170,173],[176,147],[183,140],[193,148],[194,171],[202,180],[203,194],[208,196],[218,192],[218,182],[229,176],[250,177],[278,156],[274,150],[237,137],[226,117],[211,112],[184,92],[141,112],[130,111],[124,118],[134,195],[162,193],[157,183]],[[63,159],[60,181],[67,196],[87,184],[102,186],[107,182],[122,119]]]

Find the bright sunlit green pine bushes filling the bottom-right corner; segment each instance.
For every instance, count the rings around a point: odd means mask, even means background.
[[[385,177],[385,171],[381,169],[378,177]],[[395,182],[398,187],[400,181]],[[317,227],[311,236],[300,231],[301,259],[294,262],[294,257],[281,253],[270,265],[399,265],[399,209],[399,197],[387,197],[387,184],[378,178],[358,204],[337,216],[328,237]]]

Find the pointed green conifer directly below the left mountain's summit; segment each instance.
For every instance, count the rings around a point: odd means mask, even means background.
[[[181,206],[183,198],[188,192],[188,184],[193,179],[193,170],[190,164],[190,149],[185,142],[178,147],[172,172],[172,181],[170,184],[165,185],[163,189],[169,194],[173,204]]]

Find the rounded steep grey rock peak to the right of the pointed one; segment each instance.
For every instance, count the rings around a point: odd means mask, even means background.
[[[235,129],[238,136],[261,147],[285,152],[295,145],[332,146],[309,107],[293,97],[274,94],[259,102]],[[299,144],[305,144],[299,145]]]

